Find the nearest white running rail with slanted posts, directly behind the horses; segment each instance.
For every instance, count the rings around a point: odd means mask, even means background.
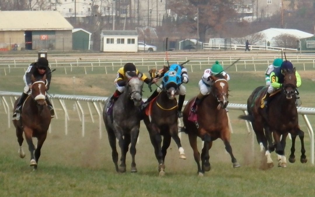
[[[8,116],[8,127],[11,127],[11,119],[12,119],[12,114],[10,112],[13,111],[13,105],[14,101],[16,98],[20,96],[20,93],[18,92],[3,92],[0,91],[0,97],[3,102],[3,108],[5,113]],[[10,101],[7,101],[7,97],[9,97]],[[65,119],[65,135],[68,134],[68,121],[69,121],[69,115],[67,111],[67,107],[65,105],[65,100],[71,100],[75,101],[75,106],[77,109],[78,117],[80,121],[82,122],[82,136],[84,137],[85,135],[85,116],[86,112],[84,111],[84,108],[82,107],[80,101],[86,102],[87,103],[87,108],[89,111],[89,115],[91,117],[91,120],[93,123],[95,123],[93,114],[92,114],[92,108],[90,105],[93,105],[95,108],[95,111],[98,114],[98,124],[99,124],[99,138],[102,138],[102,125],[103,119],[102,119],[102,109],[104,106],[104,103],[107,99],[107,97],[96,97],[96,96],[71,96],[71,95],[54,95],[54,96],[49,96],[51,99],[51,102],[54,106],[54,101],[59,101],[60,105],[62,107],[62,110],[64,111],[64,119]],[[0,100],[0,101],[1,101]],[[0,102],[1,103],[1,102]],[[187,103],[187,101],[184,102],[184,105]],[[228,110],[238,110],[238,111],[243,111],[243,113],[246,115],[247,114],[247,106],[245,104],[233,104],[229,103],[227,106]],[[310,124],[307,115],[315,115],[315,108],[306,108],[306,107],[298,107],[298,113],[302,115],[306,126],[308,130],[308,134],[310,136],[310,142],[311,142],[311,163],[314,165],[314,132],[312,129],[312,125]],[[58,119],[58,113],[57,110],[55,110],[55,118]],[[229,115],[228,115],[229,118]],[[245,121],[246,127],[248,132],[252,131],[251,125],[249,122]],[[232,129],[232,124],[229,118],[229,127],[231,130],[231,133],[233,133]],[[51,132],[49,130],[49,132]],[[254,136],[254,135],[253,135]],[[253,138],[253,143],[255,139]]]

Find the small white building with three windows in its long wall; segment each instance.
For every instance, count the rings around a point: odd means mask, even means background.
[[[101,51],[104,52],[137,52],[138,33],[132,30],[103,30],[100,34]]]

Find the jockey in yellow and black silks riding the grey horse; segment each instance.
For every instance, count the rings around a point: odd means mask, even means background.
[[[145,74],[138,71],[133,63],[126,63],[123,67],[118,69],[117,78],[114,81],[116,85],[116,90],[109,100],[108,108],[111,108],[113,106],[114,102],[125,90],[127,79],[129,77],[137,77],[139,74],[141,75],[141,80],[144,81],[146,84],[149,84],[151,82],[151,79],[147,78]]]

